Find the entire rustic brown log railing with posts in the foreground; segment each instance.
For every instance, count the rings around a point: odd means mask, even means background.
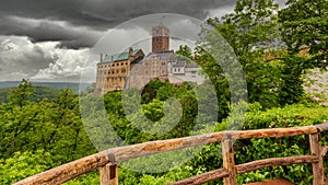
[[[175,182],[172,183],[172,185],[203,184],[219,178],[223,178],[224,185],[235,185],[237,174],[247,173],[262,167],[300,163],[312,163],[314,175],[313,184],[324,185],[323,157],[326,155],[328,147],[321,148],[319,135],[325,130],[328,130],[328,122],[320,125],[305,127],[220,131],[169,140],[150,141],[133,146],[117,147],[36,174],[34,176],[20,181],[14,185],[62,184],[69,180],[72,180],[96,169],[99,169],[102,185],[115,185],[118,184],[117,162],[165,151],[214,143],[219,141],[221,141],[222,143],[222,169]],[[300,135],[309,135],[309,155],[271,158],[235,165],[234,152],[232,148],[234,140],[249,138],[280,138]]]

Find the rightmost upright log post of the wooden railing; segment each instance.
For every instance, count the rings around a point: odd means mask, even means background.
[[[321,141],[319,134],[309,135],[311,154],[318,159],[318,162],[312,163],[313,185],[324,185],[324,161],[321,157]]]

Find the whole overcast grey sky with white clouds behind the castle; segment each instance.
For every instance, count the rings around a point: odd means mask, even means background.
[[[127,43],[128,38],[133,37],[134,41],[136,37],[140,37],[139,43],[144,43],[145,53],[149,51],[147,44],[150,41],[145,37],[152,26],[149,24],[159,22],[160,19],[154,18],[152,21],[133,19],[155,13],[175,13],[204,21],[231,12],[235,2],[235,0],[0,1],[0,81],[22,78],[34,81],[79,81],[82,71],[92,77],[95,73],[96,60],[87,62],[89,54],[96,43],[102,43],[98,41],[104,39],[106,33],[110,33],[112,37],[116,33],[116,44],[122,39],[122,43]],[[283,4],[283,0],[279,3]],[[177,35],[189,34],[181,27],[191,25],[187,25],[183,16],[179,18],[169,20],[169,16],[166,16],[163,23]],[[128,21],[134,24],[126,24]],[[139,27],[136,23],[142,21],[143,26]],[[132,44],[142,46],[138,43]],[[173,49],[176,49],[177,45],[178,42],[172,42]],[[114,50],[105,48],[105,53],[108,54],[115,53]]]

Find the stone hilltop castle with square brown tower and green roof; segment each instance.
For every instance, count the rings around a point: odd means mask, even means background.
[[[141,89],[154,78],[172,83],[194,81],[200,83],[195,62],[177,59],[169,50],[169,30],[160,24],[152,28],[152,50],[147,56],[142,49],[115,54],[101,54],[97,63],[95,94],[106,94],[128,88]]]

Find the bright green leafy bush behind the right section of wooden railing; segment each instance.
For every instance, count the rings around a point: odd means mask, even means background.
[[[297,127],[321,124],[328,120],[328,108],[317,105],[288,105],[284,108],[260,111],[259,104],[249,104],[243,129],[261,129],[279,127]],[[218,131],[225,128],[226,120],[218,124]],[[323,144],[327,144],[327,134],[321,134]],[[202,153],[196,157],[187,165],[206,169],[206,172],[221,169],[222,158],[220,143],[206,146]],[[308,136],[285,138],[262,138],[237,140],[234,143],[235,162],[242,164],[267,158],[281,158],[291,155],[309,154]],[[326,157],[327,158],[327,157]],[[325,161],[325,160],[324,160]],[[325,166],[328,166],[327,160]],[[195,173],[192,173],[195,175]],[[284,177],[295,184],[311,184],[312,165],[297,164],[289,166],[266,167],[238,176],[238,184]],[[214,183],[222,183],[221,181]],[[213,183],[213,184],[214,184]],[[212,184],[212,183],[210,183]]]

